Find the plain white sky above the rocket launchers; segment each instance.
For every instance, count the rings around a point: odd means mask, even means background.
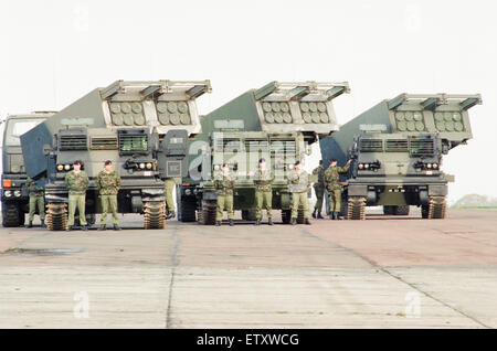
[[[482,93],[450,200],[497,196],[495,1],[0,1],[0,115],[116,79],[205,79],[205,114],[269,81],[348,81],[340,124],[400,93]],[[313,160],[319,159],[316,153]],[[314,164],[309,164],[314,166]]]

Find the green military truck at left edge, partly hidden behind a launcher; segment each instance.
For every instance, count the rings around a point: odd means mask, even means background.
[[[22,157],[22,134],[53,116],[54,111],[35,111],[25,115],[9,115],[3,120],[2,139],[2,225],[24,224],[29,212],[29,192],[25,188],[27,174]]]

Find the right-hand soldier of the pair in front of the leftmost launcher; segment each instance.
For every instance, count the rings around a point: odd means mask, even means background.
[[[98,231],[107,228],[107,212],[110,208],[113,213],[113,224],[115,231],[120,231],[117,219],[117,193],[120,188],[120,177],[113,171],[113,162],[107,160],[104,163],[104,170],[98,173],[97,189],[102,201],[102,220]]]

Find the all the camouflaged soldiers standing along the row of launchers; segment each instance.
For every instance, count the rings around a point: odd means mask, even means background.
[[[339,183],[339,174],[348,171],[350,160],[345,167],[338,167],[337,160],[331,160],[329,167],[325,170],[322,160],[319,161],[319,167],[314,169],[313,174],[317,174],[317,181],[314,183],[316,192],[316,205],[314,208],[313,217],[324,219],[321,215],[322,199],[325,190],[328,191],[328,199],[330,205],[330,220],[339,220],[340,204],[341,204],[341,188]],[[113,225],[115,231],[120,231],[117,217],[117,194],[120,188],[120,176],[113,169],[113,162],[107,160],[104,162],[104,169],[97,177],[97,189],[102,204],[102,219],[99,231],[107,228],[107,213],[110,212],[113,216]],[[255,200],[256,213],[255,225],[261,225],[263,209],[267,213],[267,224],[274,225],[272,219],[272,203],[273,189],[272,184],[275,179],[274,172],[267,168],[266,160],[258,160],[258,168],[254,177],[255,182]],[[223,212],[228,212],[229,224],[234,225],[233,222],[233,191],[235,177],[230,171],[228,163],[222,166],[221,172],[214,176],[214,188],[218,193],[218,205],[215,215],[215,225],[221,225]],[[309,222],[309,205],[307,201],[307,192],[310,185],[310,174],[302,169],[300,161],[296,161],[294,169],[288,172],[287,177],[288,191],[292,194],[290,203],[290,223],[297,224],[298,209],[304,211],[304,223],[310,225]],[[65,185],[68,190],[68,219],[67,231],[74,230],[74,215],[76,209],[80,213],[80,223],[83,231],[87,231],[87,222],[85,215],[86,190],[89,185],[89,179],[85,171],[82,170],[82,162],[76,160],[73,163],[73,170],[65,176]],[[44,188],[36,185],[36,183],[28,178],[27,188],[30,194],[29,202],[29,224],[28,227],[33,226],[34,213],[39,211],[42,227],[45,227],[45,211],[44,211]],[[172,201],[172,190],[175,189],[175,180],[168,179],[165,181],[166,190],[166,208],[167,219],[176,215],[175,205]]]

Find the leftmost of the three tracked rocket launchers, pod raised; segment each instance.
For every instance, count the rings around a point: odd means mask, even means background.
[[[96,178],[112,160],[121,177],[119,213],[142,213],[145,228],[163,227],[163,179],[187,173],[188,137],[201,130],[195,98],[207,92],[209,81],[117,81],[22,135],[28,176],[46,182],[47,227],[66,226],[64,178],[75,160],[91,180],[89,223],[102,211]]]

